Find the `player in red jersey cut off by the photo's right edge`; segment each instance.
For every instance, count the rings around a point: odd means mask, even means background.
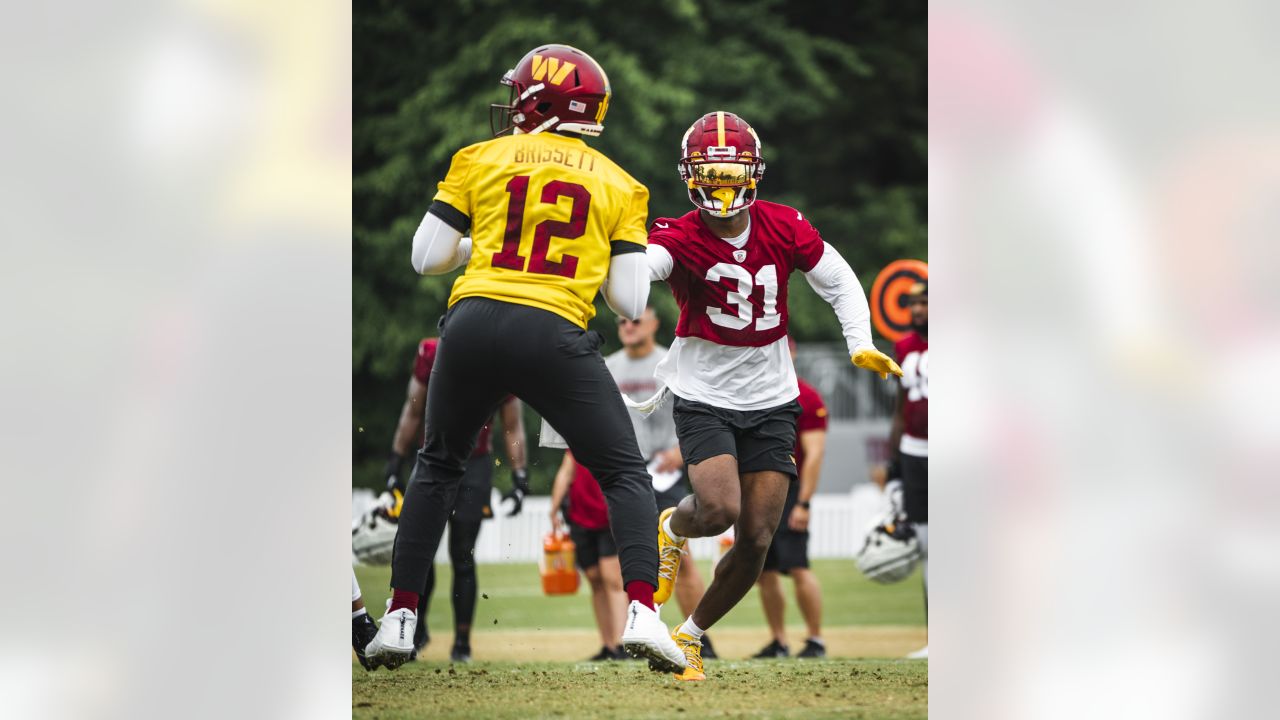
[[[929,611],[929,284],[916,283],[906,297],[911,332],[893,346],[902,365],[888,443],[888,479],[902,482],[902,511],[920,539],[924,611]],[[928,657],[929,646],[908,657]]]

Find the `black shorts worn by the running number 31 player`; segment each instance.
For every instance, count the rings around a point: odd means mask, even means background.
[[[739,473],[776,470],[795,479],[797,401],[764,410],[726,410],[676,396],[673,415],[686,464],[732,455]]]

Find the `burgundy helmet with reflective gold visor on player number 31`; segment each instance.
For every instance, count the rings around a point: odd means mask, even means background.
[[[689,200],[718,218],[728,218],[755,202],[755,186],[764,177],[760,136],[733,113],[707,113],[680,142],[680,179]]]

